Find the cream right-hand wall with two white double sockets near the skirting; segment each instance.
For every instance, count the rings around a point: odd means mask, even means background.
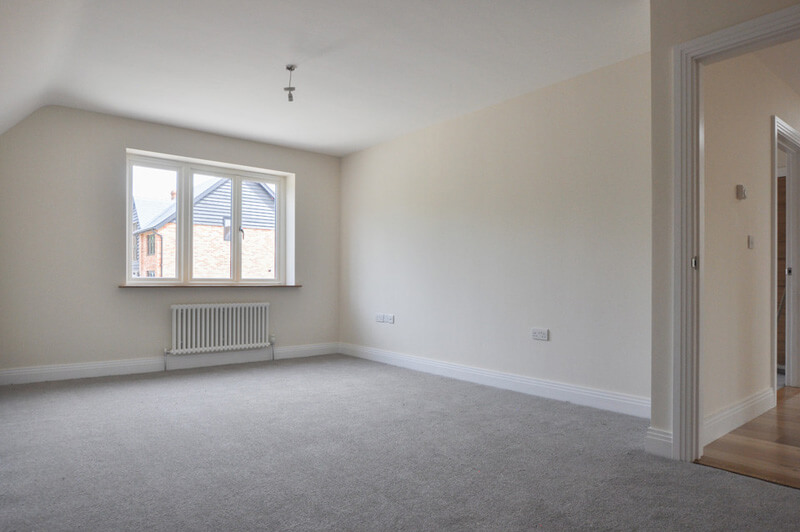
[[[346,157],[341,340],[648,397],[649,68]]]

